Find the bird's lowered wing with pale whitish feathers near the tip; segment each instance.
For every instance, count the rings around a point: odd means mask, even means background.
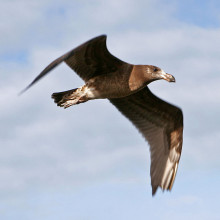
[[[150,145],[152,194],[171,190],[182,150],[183,114],[153,95],[148,87],[111,103],[142,133]]]

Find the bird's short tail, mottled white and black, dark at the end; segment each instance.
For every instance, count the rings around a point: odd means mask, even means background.
[[[71,89],[64,92],[56,92],[52,94],[51,98],[54,99],[57,106],[64,108],[87,101],[81,88]]]

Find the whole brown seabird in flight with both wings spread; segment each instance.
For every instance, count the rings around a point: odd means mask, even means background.
[[[175,78],[153,65],[133,65],[113,56],[106,35],[95,37],[50,63],[21,93],[63,61],[84,81],[80,88],[52,94],[63,108],[93,99],[109,99],[139,130],[150,146],[152,195],[158,189],[171,190],[183,141],[183,113],[180,108],[156,97],[147,85]]]

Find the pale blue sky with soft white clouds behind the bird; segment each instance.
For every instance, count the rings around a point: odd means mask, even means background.
[[[0,0],[0,217],[220,219],[218,0]],[[58,108],[83,85],[65,64],[18,96],[51,61],[107,34],[115,56],[176,78],[153,82],[183,110],[171,192],[151,196],[148,144],[108,100]]]

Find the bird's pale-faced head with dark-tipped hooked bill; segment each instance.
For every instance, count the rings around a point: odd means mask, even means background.
[[[165,79],[168,82],[175,82],[174,76],[171,74],[168,74],[164,72],[162,69],[156,66],[147,65],[145,69],[145,74],[148,79],[159,80],[159,79]]]

